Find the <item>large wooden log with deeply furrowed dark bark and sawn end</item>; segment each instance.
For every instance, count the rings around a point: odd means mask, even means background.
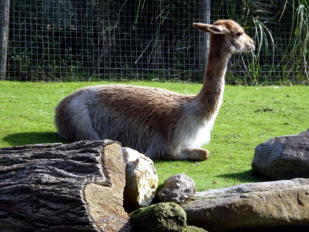
[[[111,140],[0,148],[0,231],[131,231]]]

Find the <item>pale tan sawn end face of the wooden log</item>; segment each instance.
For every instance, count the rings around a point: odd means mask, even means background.
[[[130,231],[129,216],[123,208],[125,163],[119,144],[104,148],[104,170],[111,186],[89,183],[84,189],[84,199],[91,221],[100,231]]]

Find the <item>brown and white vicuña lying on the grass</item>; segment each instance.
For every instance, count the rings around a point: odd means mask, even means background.
[[[210,140],[228,59],[254,45],[231,20],[193,25],[210,33],[207,69],[197,95],[120,84],[81,88],[56,107],[59,135],[69,141],[116,140],[150,158],[206,160],[209,152],[199,146]]]

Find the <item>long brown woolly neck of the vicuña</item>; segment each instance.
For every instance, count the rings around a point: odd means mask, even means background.
[[[217,44],[218,38],[210,37],[207,68],[201,91],[197,94],[197,100],[204,107],[206,117],[215,114],[222,103],[224,91],[224,75],[231,54],[228,54]]]

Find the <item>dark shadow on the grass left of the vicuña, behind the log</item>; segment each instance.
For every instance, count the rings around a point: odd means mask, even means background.
[[[60,138],[56,132],[15,133],[3,137],[3,141],[9,143],[11,146],[46,143],[69,143],[68,141]]]

